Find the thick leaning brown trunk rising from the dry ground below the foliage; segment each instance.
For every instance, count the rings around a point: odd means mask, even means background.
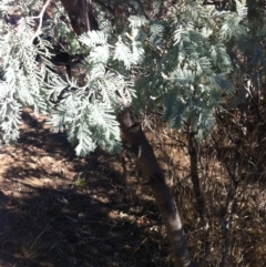
[[[163,173],[158,166],[152,146],[149,144],[141,125],[135,122],[130,109],[125,107],[117,117],[123,137],[134,150],[143,178],[150,185],[155,202],[162,214],[172,249],[178,267],[195,266],[188,253],[184,230],[175,202],[165,183]]]

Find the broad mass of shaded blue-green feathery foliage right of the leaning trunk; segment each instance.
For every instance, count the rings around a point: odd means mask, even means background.
[[[214,11],[202,1],[172,6],[165,21],[151,23],[150,53],[144,60],[150,64],[136,82],[139,100],[163,104],[163,119],[171,127],[182,129],[186,123],[198,136],[212,129],[214,110],[233,91],[231,59],[214,19]]]

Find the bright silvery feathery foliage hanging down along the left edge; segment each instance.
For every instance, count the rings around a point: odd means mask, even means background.
[[[40,40],[33,45],[34,20],[29,16],[30,10],[41,4],[40,0],[2,0],[0,3],[1,143],[18,140],[23,106],[31,106],[35,113],[48,112],[44,76],[52,74],[35,58],[49,58],[49,43]]]

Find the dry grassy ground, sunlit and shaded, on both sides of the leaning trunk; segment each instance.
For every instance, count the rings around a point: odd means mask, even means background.
[[[213,138],[201,143],[204,220],[195,208],[186,136],[165,130],[155,116],[146,121],[198,266],[266,263],[264,124],[253,117],[257,126],[237,146],[231,141],[237,116],[225,116]],[[20,142],[1,153],[0,266],[174,266],[158,209],[131,155],[96,151],[78,158],[64,135],[43,126],[44,119],[29,111],[23,119]],[[236,150],[241,179],[226,215]]]

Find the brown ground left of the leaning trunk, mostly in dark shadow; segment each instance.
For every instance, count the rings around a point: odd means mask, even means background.
[[[0,266],[173,266],[153,199],[122,186],[117,157],[74,156],[63,134],[23,113],[0,173]]]

